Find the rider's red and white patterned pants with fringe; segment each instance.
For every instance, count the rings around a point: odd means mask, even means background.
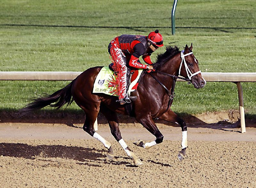
[[[118,83],[118,97],[119,99],[123,99],[126,96],[126,62],[124,62],[123,57],[124,53],[119,48],[117,42],[115,40],[111,41],[110,55],[113,59],[113,63],[115,67],[115,71],[117,72],[117,83]]]

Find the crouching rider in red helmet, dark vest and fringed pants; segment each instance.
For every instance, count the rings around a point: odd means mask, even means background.
[[[143,35],[120,35],[108,45],[108,52],[113,59],[109,66],[117,72],[118,97],[121,105],[136,100],[135,96],[128,96],[127,79],[130,78],[130,68],[153,70],[150,55],[162,47],[163,37],[158,30]],[[140,56],[148,65],[140,63]]]

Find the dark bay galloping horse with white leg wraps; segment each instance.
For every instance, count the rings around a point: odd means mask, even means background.
[[[193,55],[192,43],[190,47],[186,45],[182,51],[179,51],[176,46],[166,47],[166,51],[157,56],[157,61],[153,66],[156,71],[143,74],[137,90],[131,92],[131,96],[137,96],[137,100],[132,102],[136,121],[152,133],[156,140],[146,143],[138,141],[134,144],[148,149],[163,142],[164,136],[158,130],[154,119],[158,118],[176,123],[180,125],[182,130],[181,151],[178,153],[178,157],[182,161],[187,148],[187,125],[170,109],[174,97],[175,81],[180,75],[190,81],[197,89],[203,88],[206,82],[199,70],[198,60]],[[119,130],[117,113],[127,115],[124,105],[116,102],[117,97],[92,93],[95,78],[101,68],[92,67],[85,70],[63,89],[52,95],[33,99],[33,102],[21,109],[20,112],[24,114],[45,106],[60,108],[65,104],[68,106],[74,100],[85,113],[84,131],[98,139],[108,149],[107,156],[109,159],[114,158],[111,144],[101,137],[93,126],[99,112],[104,114],[112,135],[123,147],[126,154],[133,159],[134,164],[142,164],[140,159],[126,145]]]

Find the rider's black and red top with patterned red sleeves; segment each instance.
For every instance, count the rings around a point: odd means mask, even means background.
[[[129,60],[129,66],[134,68],[146,69],[147,65],[143,65],[139,61],[139,57],[148,65],[152,64],[150,55],[153,51],[148,48],[148,42],[146,36],[143,35],[120,35],[114,39],[119,48],[124,52],[124,54],[129,54],[131,56]]]

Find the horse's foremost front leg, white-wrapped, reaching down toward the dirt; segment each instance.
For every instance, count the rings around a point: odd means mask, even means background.
[[[160,120],[176,123],[180,125],[182,131],[182,141],[181,141],[181,151],[178,153],[178,158],[182,161],[186,154],[186,148],[188,147],[188,137],[187,137],[187,124],[185,121],[180,119],[177,114],[172,112],[172,110],[168,110],[166,113],[159,117]]]

